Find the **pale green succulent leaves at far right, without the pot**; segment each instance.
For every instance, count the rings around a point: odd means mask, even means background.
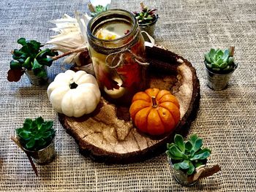
[[[211,72],[226,74],[236,68],[234,57],[230,55],[230,49],[220,50],[211,48],[204,56],[206,67]]]

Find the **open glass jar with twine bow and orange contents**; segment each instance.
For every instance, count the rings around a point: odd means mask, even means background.
[[[146,52],[131,12],[110,9],[87,26],[89,54],[102,95],[115,104],[130,104],[146,88]]]

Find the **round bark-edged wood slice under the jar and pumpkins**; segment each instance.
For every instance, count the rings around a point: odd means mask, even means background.
[[[186,59],[162,47],[147,47],[146,53],[150,63],[150,87],[167,89],[177,97],[180,123],[173,133],[165,137],[148,137],[132,125],[129,108],[116,107],[102,98],[91,115],[69,118],[59,114],[61,124],[75,138],[83,155],[110,164],[143,161],[163,153],[174,134],[187,134],[200,101],[200,85],[195,69]]]

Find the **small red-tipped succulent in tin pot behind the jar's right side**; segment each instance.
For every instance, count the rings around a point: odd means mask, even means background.
[[[134,12],[140,26],[140,31],[146,31],[151,37],[154,37],[154,29],[158,19],[158,15],[155,13],[156,10],[148,9],[143,3],[140,3],[140,12]],[[145,40],[148,40],[147,35],[144,33],[143,37]]]

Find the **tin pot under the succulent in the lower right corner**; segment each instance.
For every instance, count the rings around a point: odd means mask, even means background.
[[[181,170],[176,170],[174,169],[173,163],[170,160],[170,158],[168,158],[168,161],[170,163],[170,166],[173,169],[173,177],[177,181],[177,183],[184,186],[192,186],[198,182],[198,180],[192,180],[192,177],[194,177],[194,174],[189,175],[185,172],[182,172]]]

